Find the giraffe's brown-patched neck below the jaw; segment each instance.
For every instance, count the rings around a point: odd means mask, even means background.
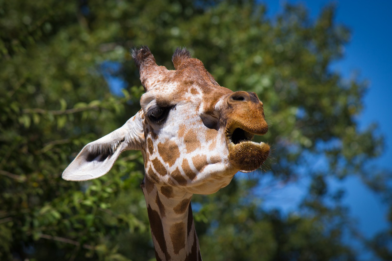
[[[192,215],[192,194],[181,188],[156,185],[148,178],[143,180],[141,187],[157,261],[201,261]]]

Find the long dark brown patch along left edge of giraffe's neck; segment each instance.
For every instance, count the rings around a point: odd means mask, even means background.
[[[167,245],[165,241],[165,236],[163,235],[163,226],[162,226],[161,217],[159,216],[156,210],[153,210],[151,208],[150,205],[148,205],[147,207],[147,214],[148,214],[148,219],[150,221],[151,234],[155,237],[156,243],[158,243],[158,246],[161,248],[163,254],[165,255],[165,259],[170,260],[171,256],[167,252]],[[155,256],[157,260],[160,260],[158,253],[156,251],[155,251]]]

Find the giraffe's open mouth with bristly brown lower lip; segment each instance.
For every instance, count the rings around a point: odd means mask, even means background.
[[[232,126],[226,129],[229,161],[241,172],[258,169],[270,152],[267,143],[252,141],[255,134],[247,130],[245,126]]]

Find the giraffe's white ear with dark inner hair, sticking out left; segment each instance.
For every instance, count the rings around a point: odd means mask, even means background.
[[[128,120],[121,128],[85,145],[64,170],[62,178],[73,181],[99,178],[109,172],[121,152],[141,149],[143,127],[135,124],[136,120],[133,119]]]

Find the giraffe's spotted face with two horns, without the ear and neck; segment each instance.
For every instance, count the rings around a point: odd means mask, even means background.
[[[186,50],[174,53],[174,71],[156,65],[149,50],[133,56],[146,90],[142,152],[150,181],[211,194],[238,170],[260,167],[269,146],[251,139],[268,127],[255,93],[219,86]]]

